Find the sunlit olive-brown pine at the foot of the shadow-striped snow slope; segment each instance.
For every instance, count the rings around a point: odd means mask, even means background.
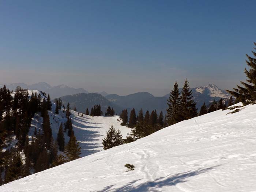
[[[73,161],[75,159],[80,158],[81,155],[81,147],[76,140],[75,135],[71,135],[67,146],[65,146],[64,154],[67,157],[67,161]]]

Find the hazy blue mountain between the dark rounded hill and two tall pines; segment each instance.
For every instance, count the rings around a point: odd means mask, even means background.
[[[155,97],[147,92],[139,92],[126,96],[119,96],[117,94],[109,94],[106,99],[112,103],[120,106],[122,109],[128,110],[135,108],[136,112],[143,109],[144,112],[157,110],[158,114],[163,111],[166,113],[167,99],[165,97]]]

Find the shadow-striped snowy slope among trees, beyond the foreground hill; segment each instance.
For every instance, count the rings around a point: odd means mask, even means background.
[[[35,94],[41,94],[41,98],[44,98],[44,95],[38,91],[38,90],[28,90],[29,97],[31,96],[32,92]],[[14,97],[15,92],[12,94]],[[50,125],[52,128],[52,136],[54,140],[57,140],[57,134],[59,132],[60,124],[67,121],[67,118],[65,117],[65,113],[62,110],[59,110],[59,114],[55,114],[55,103],[52,102],[52,110],[48,112],[50,117]],[[76,136],[76,139],[78,140],[79,145],[81,147],[82,154],[80,157],[84,157],[86,155],[90,155],[93,153],[96,153],[98,151],[103,150],[102,145],[102,139],[106,136],[106,132],[108,131],[108,128],[111,127],[113,124],[113,127],[116,129],[120,129],[123,138],[125,139],[127,136],[127,133],[131,132],[130,128],[127,128],[126,126],[121,125],[121,120],[119,116],[113,116],[113,117],[91,117],[83,114],[83,117],[80,115],[78,116],[78,112],[75,112],[73,110],[71,111],[71,119],[73,124],[74,133]],[[32,139],[32,136],[34,136],[34,131],[37,129],[37,132],[42,130],[42,123],[43,118],[41,117],[40,113],[35,113],[34,117],[31,121],[31,127],[29,130],[29,139]],[[65,136],[65,143],[68,143],[69,137],[67,136],[67,133],[64,134]],[[14,146],[17,140],[14,139],[13,142],[11,142],[11,146]],[[6,149],[4,149],[6,150]]]

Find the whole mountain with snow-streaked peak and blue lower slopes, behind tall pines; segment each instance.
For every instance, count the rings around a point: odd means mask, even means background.
[[[181,93],[182,88],[179,89]],[[226,91],[219,89],[214,84],[208,84],[206,86],[200,86],[192,88],[193,99],[196,102],[196,107],[200,110],[201,106],[205,102],[206,105],[209,105],[214,99],[218,101],[221,98],[229,98],[230,94]],[[164,97],[169,98],[169,93]]]

